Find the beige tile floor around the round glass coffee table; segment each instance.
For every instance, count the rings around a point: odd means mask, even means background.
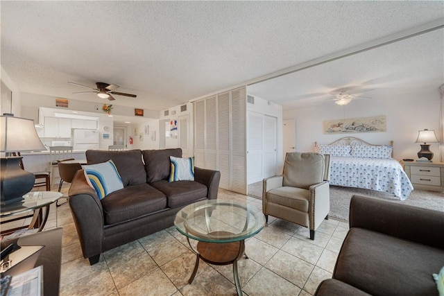
[[[219,198],[262,208],[256,198],[223,189]],[[68,204],[51,207],[45,229],[51,227],[64,229],[60,295],[236,295],[232,265],[200,261],[193,283],[187,284],[196,255],[176,227],[109,250],[92,266],[82,256]],[[244,295],[313,295],[323,279],[332,277],[347,231],[344,221],[324,220],[311,241],[307,228],[269,217],[268,225],[246,241],[249,259],[239,261]]]

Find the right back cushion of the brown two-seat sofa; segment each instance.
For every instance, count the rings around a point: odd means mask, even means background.
[[[171,167],[169,157],[182,157],[182,149],[144,150],[142,155],[145,162],[145,182],[151,183],[168,180]]]

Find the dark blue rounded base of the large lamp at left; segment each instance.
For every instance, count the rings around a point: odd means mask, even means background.
[[[33,189],[35,176],[20,168],[23,157],[1,157],[0,204],[12,204],[23,200],[23,195]]]

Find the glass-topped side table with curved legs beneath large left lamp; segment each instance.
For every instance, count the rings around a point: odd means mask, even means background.
[[[23,195],[24,200],[21,202],[2,206],[0,209],[0,218],[3,220],[1,221],[1,225],[30,217],[33,219],[31,220],[30,225],[4,230],[1,231],[0,234],[10,234],[24,228],[38,229],[38,231],[41,232],[46,224],[46,220],[48,220],[49,206],[62,196],[62,193],[56,191],[31,191]],[[19,217],[13,218],[12,216]],[[12,218],[4,220],[8,217]]]

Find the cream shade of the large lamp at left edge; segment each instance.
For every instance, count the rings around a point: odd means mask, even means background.
[[[0,116],[0,152],[46,150],[32,119]]]

